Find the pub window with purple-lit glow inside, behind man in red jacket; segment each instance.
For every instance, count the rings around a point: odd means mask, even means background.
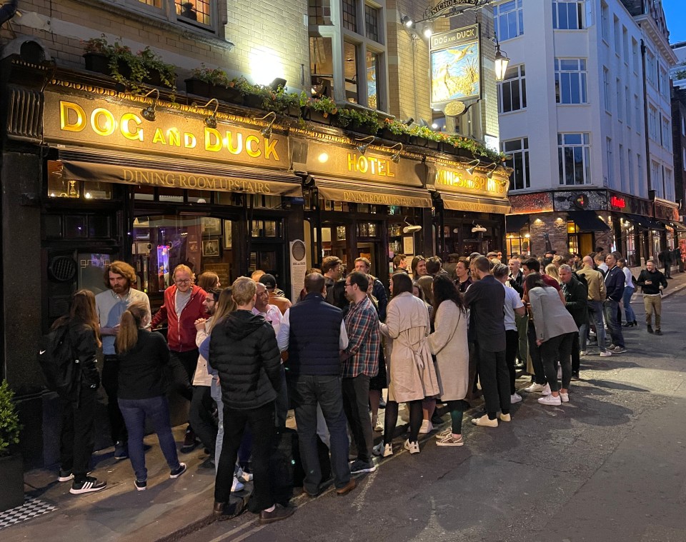
[[[172,286],[172,273],[186,264],[199,275],[214,271],[223,284],[234,278],[232,269],[232,221],[209,216],[155,215],[134,220],[131,245],[140,287],[161,293]]]

